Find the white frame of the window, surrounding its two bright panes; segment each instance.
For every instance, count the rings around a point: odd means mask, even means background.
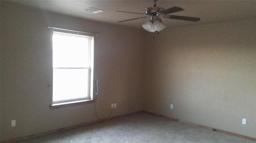
[[[84,101],[88,101],[88,100],[92,100],[93,99],[93,71],[94,71],[94,37],[93,36],[89,36],[89,35],[82,35],[78,33],[74,33],[71,31],[62,31],[62,30],[54,30],[52,35],[56,33],[56,34],[62,34],[62,35],[71,35],[71,36],[78,36],[78,37],[86,37],[89,40],[89,52],[88,52],[88,57],[90,59],[90,64],[89,67],[52,67],[52,72],[54,69],[88,69],[88,94],[86,97],[82,97],[82,98],[70,98],[70,99],[65,99],[65,100],[56,100],[53,101],[52,100],[52,104],[67,104],[67,103],[72,103],[72,102],[84,102]],[[53,88],[54,88],[54,84],[53,84]],[[52,97],[53,97],[53,93],[52,93]]]

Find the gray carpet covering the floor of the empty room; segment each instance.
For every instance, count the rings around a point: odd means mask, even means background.
[[[16,143],[256,143],[147,113],[61,131]]]

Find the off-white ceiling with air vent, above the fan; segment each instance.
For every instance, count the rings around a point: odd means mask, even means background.
[[[116,11],[144,13],[145,8],[154,6],[153,0],[14,0],[10,2],[79,18],[141,28],[141,25],[150,20],[150,18],[117,23],[122,20],[138,18],[141,15]],[[256,0],[158,0],[156,4],[165,9],[174,6],[184,9],[184,11],[171,15],[201,18],[199,22],[162,18],[164,25],[167,27],[256,18]],[[92,14],[82,11],[90,7],[104,10],[105,12]]]

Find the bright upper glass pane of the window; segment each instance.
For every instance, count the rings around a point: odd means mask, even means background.
[[[89,67],[89,40],[73,35],[53,35],[53,67]]]

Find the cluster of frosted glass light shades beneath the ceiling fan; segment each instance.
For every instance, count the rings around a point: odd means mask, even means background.
[[[142,27],[149,32],[155,32],[155,31],[161,31],[166,26],[159,20],[154,20],[154,21],[149,20],[145,24],[143,24]]]

